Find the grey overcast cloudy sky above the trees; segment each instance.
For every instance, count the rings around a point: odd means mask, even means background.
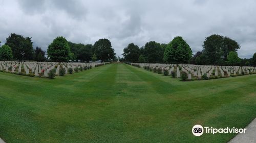
[[[195,53],[205,37],[220,34],[240,43],[240,57],[256,52],[254,0],[0,0],[0,11],[2,44],[10,33],[32,37],[44,50],[57,36],[91,44],[108,38],[121,56],[131,42],[182,36]]]

